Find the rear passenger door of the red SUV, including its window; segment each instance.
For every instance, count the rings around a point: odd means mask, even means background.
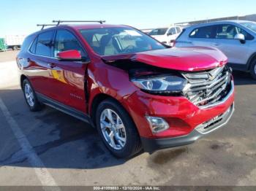
[[[34,39],[29,49],[29,58],[27,58],[29,67],[24,69],[34,90],[48,97],[53,95],[49,91],[49,85],[51,76],[50,63],[54,60],[52,58],[54,32],[54,30],[45,31]]]

